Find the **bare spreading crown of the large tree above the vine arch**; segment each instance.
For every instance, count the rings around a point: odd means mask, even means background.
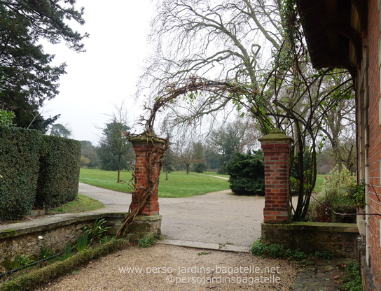
[[[262,54],[282,43],[281,0],[162,0],[157,8],[150,36],[156,50],[144,74],[156,88],[191,73],[258,89]]]

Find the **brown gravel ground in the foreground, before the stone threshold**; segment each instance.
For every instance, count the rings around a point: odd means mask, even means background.
[[[201,252],[208,254],[200,255]],[[142,268],[141,273],[138,271],[131,274],[127,269],[121,271],[121,268],[128,267]],[[284,260],[261,259],[249,253],[156,245],[152,248],[132,247],[120,250],[90,262],[77,274],[61,277],[39,290],[280,291],[292,290],[295,277],[293,263]]]

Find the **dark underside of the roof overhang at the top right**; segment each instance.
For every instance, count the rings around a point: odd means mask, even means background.
[[[367,28],[363,0],[297,0],[312,65],[345,68],[354,78]]]

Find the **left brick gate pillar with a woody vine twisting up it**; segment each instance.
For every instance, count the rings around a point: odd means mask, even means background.
[[[147,162],[153,169],[152,180],[158,178],[160,175],[160,161],[158,155],[162,153],[162,146],[164,141],[153,139],[145,135],[132,139],[132,147],[136,154],[135,162],[135,180],[134,186],[137,192],[132,196],[131,210],[136,209],[139,206],[140,201],[144,195],[144,191],[148,186],[148,171]],[[148,157],[148,161],[147,158]],[[158,184],[156,184],[153,193],[148,198],[146,205],[141,209],[138,215],[158,215],[159,214],[159,201],[158,201]]]

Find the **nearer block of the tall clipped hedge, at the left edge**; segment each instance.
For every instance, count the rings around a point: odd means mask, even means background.
[[[0,126],[0,220],[22,218],[32,208],[40,141],[35,130]]]

